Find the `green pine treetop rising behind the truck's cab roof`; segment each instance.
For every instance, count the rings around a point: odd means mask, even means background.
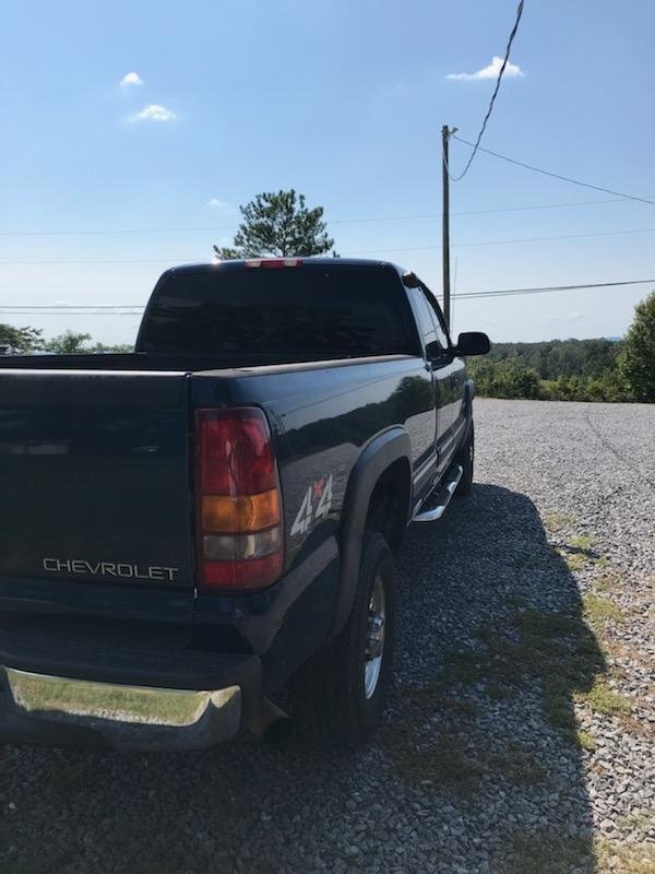
[[[334,240],[327,236],[323,208],[308,210],[305,196],[264,191],[239,208],[243,221],[233,247],[214,247],[222,259],[324,255]]]

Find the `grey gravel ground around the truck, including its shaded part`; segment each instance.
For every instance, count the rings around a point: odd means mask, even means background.
[[[655,405],[476,401],[365,751],[0,748],[0,872],[655,872]]]

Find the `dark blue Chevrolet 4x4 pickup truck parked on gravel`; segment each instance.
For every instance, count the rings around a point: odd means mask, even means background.
[[[488,350],[414,273],[284,258],[166,271],[133,353],[4,356],[0,741],[272,740],[281,690],[366,741],[393,555],[471,491]]]

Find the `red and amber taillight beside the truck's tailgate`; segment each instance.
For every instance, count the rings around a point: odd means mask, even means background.
[[[201,587],[246,590],[275,582],[284,538],[265,415],[257,406],[199,410],[195,434]]]

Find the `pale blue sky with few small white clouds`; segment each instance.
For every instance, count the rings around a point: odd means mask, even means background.
[[[239,204],[291,187],[324,206],[341,255],[395,261],[439,295],[441,126],[475,139],[515,11],[4,0],[0,307],[144,305],[166,268],[231,241]],[[483,145],[655,198],[654,32],[650,0],[525,0]],[[451,142],[453,174],[468,155]],[[478,153],[451,211],[455,294],[655,279],[650,204]],[[454,332],[616,336],[652,287],[455,298]],[[139,317],[0,321],[128,343]]]

